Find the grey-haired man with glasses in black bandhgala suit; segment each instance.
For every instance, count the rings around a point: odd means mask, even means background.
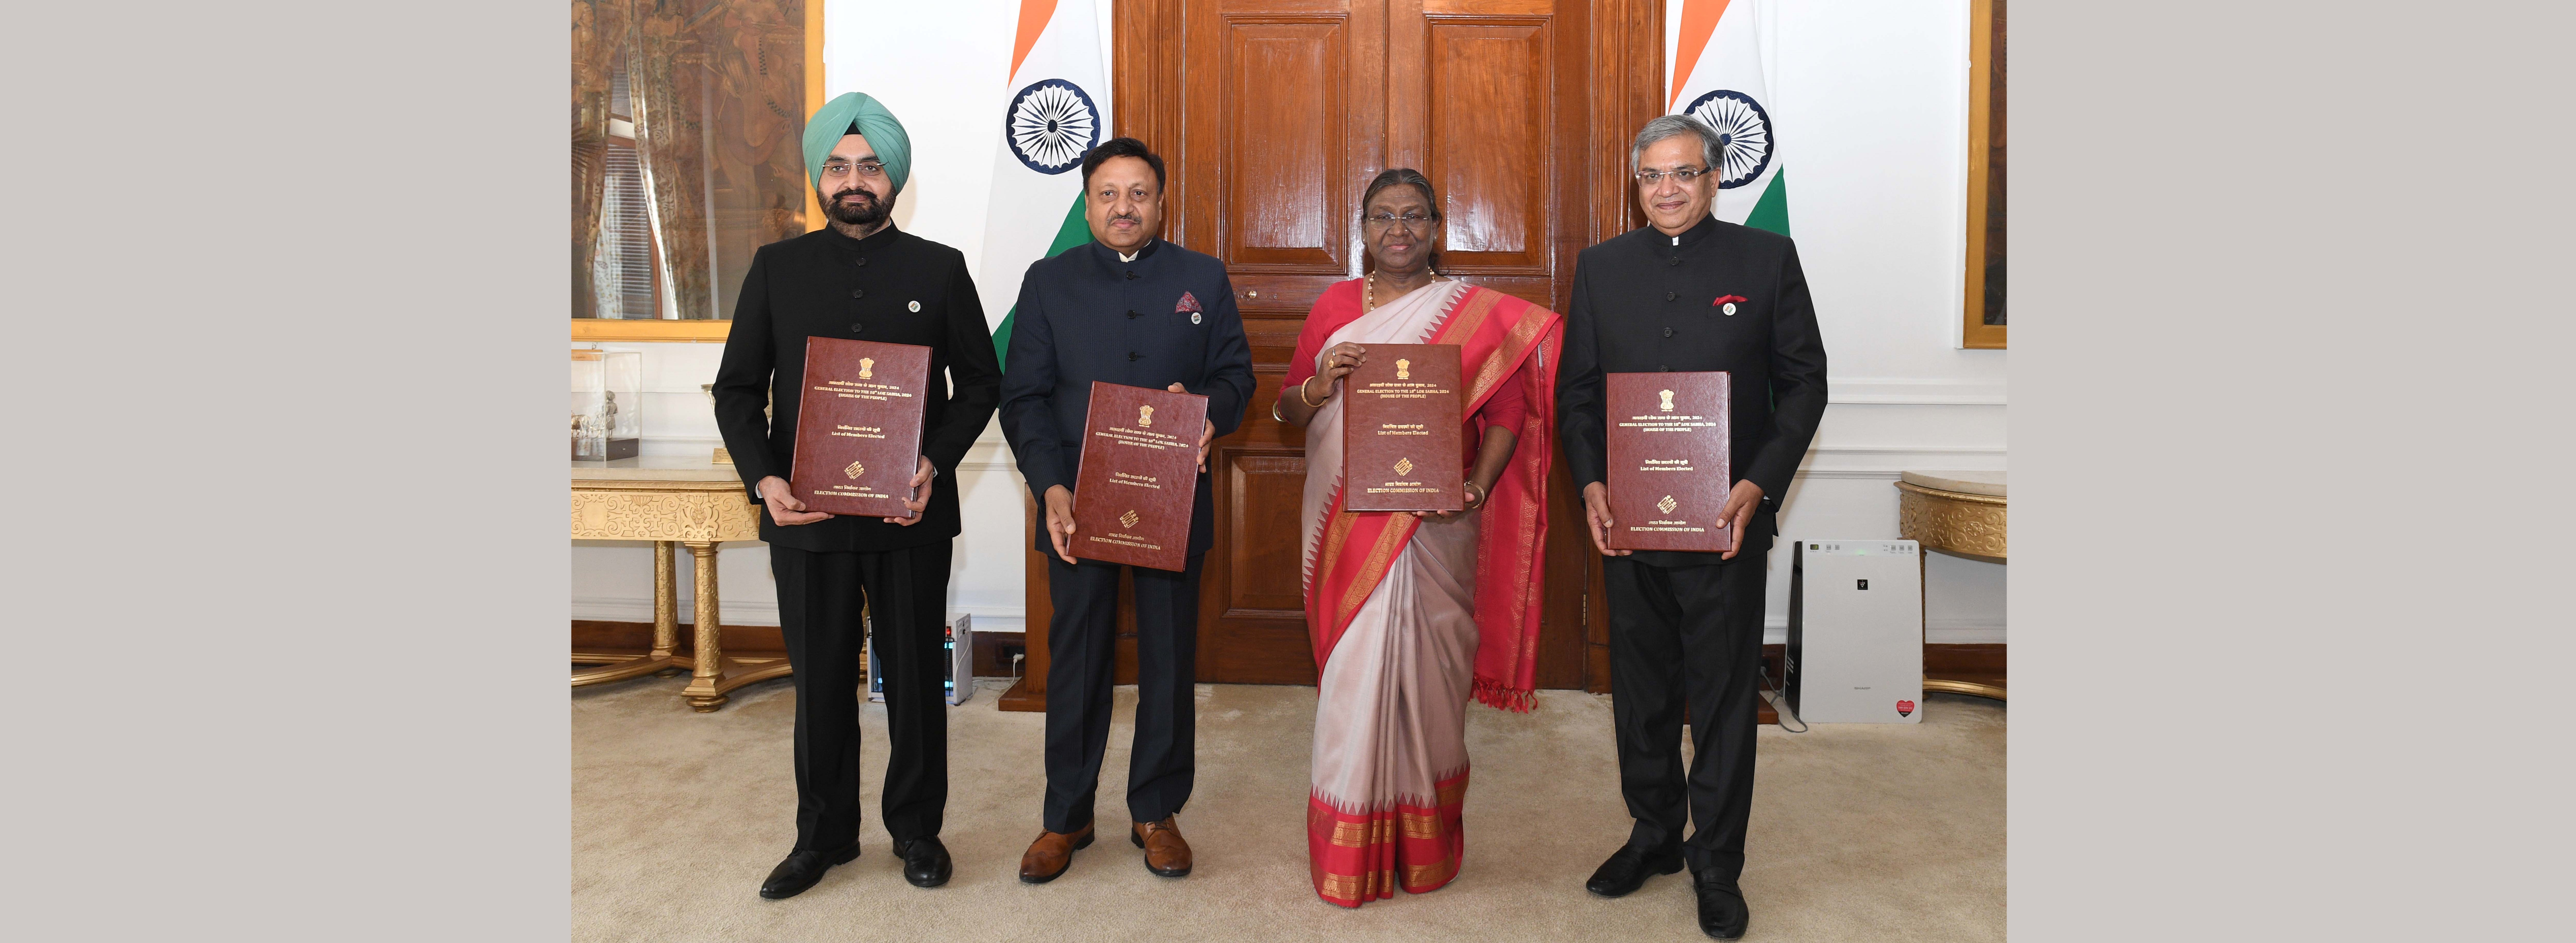
[[[1620,794],[1636,819],[1628,843],[1584,886],[1623,897],[1687,863],[1700,930],[1734,940],[1749,920],[1736,879],[1754,804],[1762,569],[1780,495],[1824,417],[1824,338],[1798,247],[1785,234],[1710,216],[1723,147],[1718,131],[1687,116],[1662,116],[1638,131],[1628,167],[1649,227],[1574,260],[1556,425],[1566,472],[1584,492],[1592,546],[1607,557],[1610,716]],[[1734,551],[1607,549],[1602,376],[1656,371],[1728,374],[1736,482],[1723,515],[1736,531]],[[1687,776],[1685,709],[1695,750]],[[1698,822],[1687,840],[1685,822]]]

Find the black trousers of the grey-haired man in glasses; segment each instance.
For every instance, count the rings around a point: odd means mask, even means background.
[[[1762,590],[1772,515],[1754,515],[1736,559],[1654,567],[1602,559],[1610,600],[1610,716],[1628,845],[1680,845],[1695,873],[1744,873],[1744,822],[1754,806],[1754,729],[1762,672]],[[1716,554],[1708,554],[1716,559]],[[1682,776],[1682,721],[1690,776]],[[1682,840],[1685,812],[1698,830]]]

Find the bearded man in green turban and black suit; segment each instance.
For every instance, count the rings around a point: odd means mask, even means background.
[[[804,157],[827,224],[752,255],[716,366],[716,428],[760,505],[760,538],[778,577],[778,634],[796,667],[796,848],[760,881],[768,899],[804,894],[824,871],[858,858],[858,685],[868,644],[860,608],[876,624],[876,672],[886,683],[886,835],[904,858],[904,881],[948,884],[943,642],[958,490],[945,482],[956,482],[958,461],[1002,399],[1002,366],[966,255],[894,227],[894,196],[912,175],[904,124],[876,98],[840,95],[806,124]],[[904,399],[922,410],[920,461],[909,482],[896,459],[896,477],[873,484],[902,495],[902,508],[806,505],[829,484],[796,479],[809,338],[930,348],[930,386]],[[837,376],[811,381],[827,379]],[[827,464],[832,477],[860,469],[850,459]]]

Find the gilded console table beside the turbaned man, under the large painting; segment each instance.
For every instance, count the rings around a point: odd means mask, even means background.
[[[652,541],[652,652],[600,654],[572,652],[572,665],[600,665],[572,672],[572,685],[598,685],[641,675],[690,670],[680,696],[698,714],[721,709],[726,691],[781,678],[788,660],[724,657],[716,595],[716,546],[757,541],[760,510],[742,495],[742,477],[729,464],[706,459],[639,456],[621,461],[572,464],[574,541]],[[698,647],[680,654],[680,590],[672,546],[688,546],[696,559]]]

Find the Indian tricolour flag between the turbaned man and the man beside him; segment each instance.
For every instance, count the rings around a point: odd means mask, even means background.
[[[1090,242],[1082,222],[1082,155],[1110,139],[1110,82],[1100,62],[1095,0],[1020,0],[1010,82],[994,106],[992,209],[984,214],[984,312],[1010,356],[1012,304],[1028,263]]]

